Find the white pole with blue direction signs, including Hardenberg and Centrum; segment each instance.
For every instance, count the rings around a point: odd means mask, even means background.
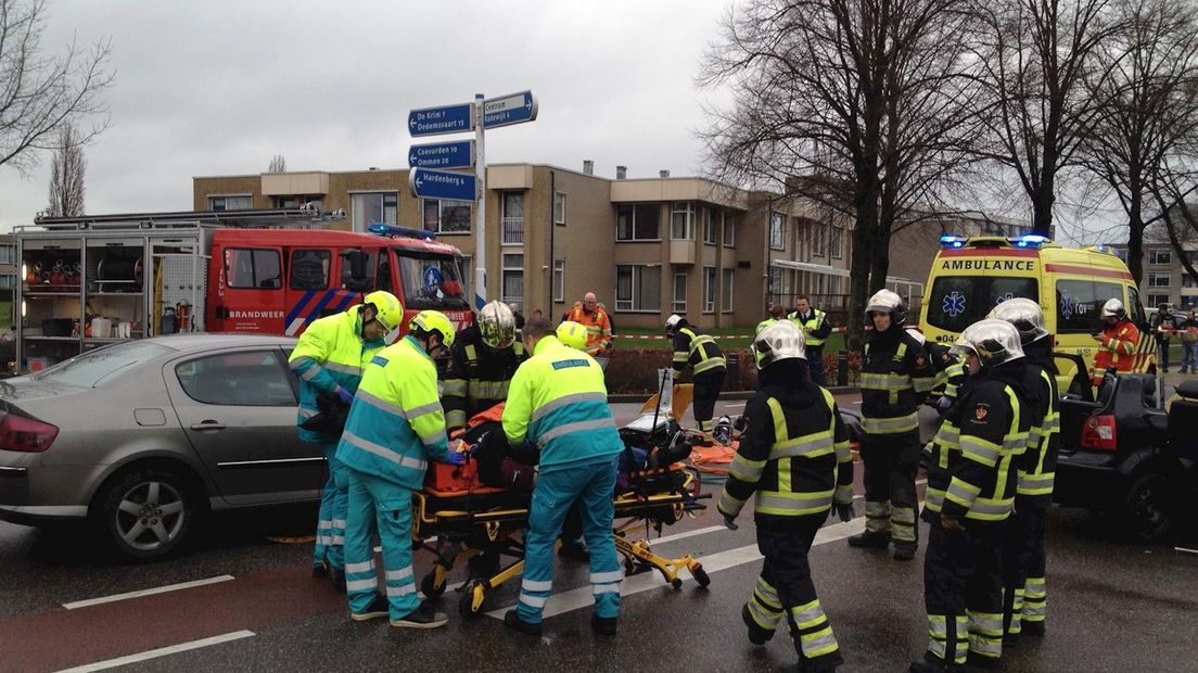
[[[407,184],[422,199],[474,201],[474,308],[486,304],[486,128],[524,123],[537,119],[537,97],[520,91],[473,103],[420,108],[407,114],[413,138],[473,131],[474,140],[413,145],[407,153]],[[430,169],[474,168],[474,175]]]

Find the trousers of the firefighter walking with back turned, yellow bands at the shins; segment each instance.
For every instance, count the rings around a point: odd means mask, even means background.
[[[840,645],[816,596],[807,552],[825,514],[794,517],[793,523],[757,525],[757,548],[766,557],[749,599],[754,623],[770,635],[786,618],[799,654],[799,669],[831,671],[843,663]]]

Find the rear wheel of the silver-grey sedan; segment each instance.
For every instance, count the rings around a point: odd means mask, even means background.
[[[101,530],[121,554],[150,560],[177,551],[196,515],[188,480],[171,468],[141,467],[111,479],[98,498]]]

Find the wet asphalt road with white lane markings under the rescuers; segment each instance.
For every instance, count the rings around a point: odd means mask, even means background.
[[[736,412],[740,405],[718,410]],[[622,422],[636,411],[635,405],[613,408]],[[437,605],[450,623],[441,630],[351,622],[344,598],[327,581],[310,577],[309,544],[268,539],[308,534],[314,517],[310,508],[220,517],[188,556],[145,565],[97,556],[78,530],[0,523],[0,671],[104,669],[131,656],[150,657],[122,669],[794,667],[783,631],[761,648],[744,636],[740,606],[761,569],[749,516],[736,532],[718,526],[713,514],[665,528],[654,551],[696,556],[712,584],[701,589],[685,572],[677,590],[657,575],[628,577],[616,638],[589,630],[586,568],[559,562],[547,608],[552,616],[539,639],[513,635],[498,619],[515,604],[518,582],[489,596],[486,610],[494,612],[472,619],[458,616],[459,594],[447,592]],[[922,548],[912,563],[852,550],[843,538],[863,521],[858,516],[821,533],[811,553],[816,586],[843,650],[842,671],[904,671],[926,645]],[[1005,671],[1198,671],[1198,553],[1127,544],[1076,510],[1053,509],[1048,535],[1048,635],[1009,649]],[[1194,542],[1182,544],[1198,547]],[[419,576],[431,557],[416,558]],[[189,582],[194,584],[120,598]],[[104,602],[75,605],[96,599]]]

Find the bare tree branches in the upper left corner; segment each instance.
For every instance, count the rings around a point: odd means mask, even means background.
[[[107,111],[101,92],[113,83],[109,43],[90,49],[74,42],[46,55],[46,0],[0,0],[0,165],[22,175],[37,165],[37,150],[53,150],[69,122],[80,144],[108,126],[93,115]]]

